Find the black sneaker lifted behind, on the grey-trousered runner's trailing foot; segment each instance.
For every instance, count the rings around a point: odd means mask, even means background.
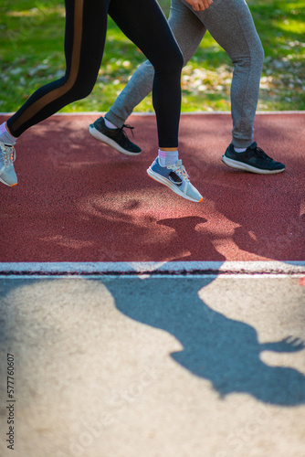
[[[142,150],[136,144],[131,143],[127,134],[123,131],[124,128],[133,129],[134,127],[124,124],[121,129],[109,129],[106,127],[104,118],[100,117],[89,125],[89,133],[97,140],[100,140],[101,143],[108,144],[121,154],[141,154]]]

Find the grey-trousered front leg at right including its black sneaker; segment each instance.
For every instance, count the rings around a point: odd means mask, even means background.
[[[181,1],[188,5],[184,0]],[[194,14],[226,50],[235,66],[231,85],[233,138],[222,161],[228,166],[252,173],[275,174],[284,171],[285,165],[268,157],[253,142],[264,50],[245,0],[214,0],[207,10]]]

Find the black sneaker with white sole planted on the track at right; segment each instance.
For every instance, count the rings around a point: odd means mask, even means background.
[[[252,143],[244,153],[236,153],[231,143],[222,156],[224,164],[260,175],[272,175],[285,170],[285,165],[271,159],[257,143]]]

